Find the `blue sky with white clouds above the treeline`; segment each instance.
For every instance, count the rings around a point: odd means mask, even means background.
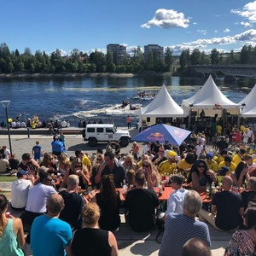
[[[244,0],[9,0],[2,1],[0,43],[51,53],[106,52],[107,44],[159,44],[209,53],[256,45],[256,1]]]

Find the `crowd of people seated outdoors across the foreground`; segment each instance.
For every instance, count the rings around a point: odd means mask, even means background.
[[[218,135],[216,144],[207,150],[203,131],[192,132],[191,138],[180,146],[156,141],[140,147],[133,142],[129,154],[122,154],[118,142],[108,142],[105,152],[98,148],[89,155],[77,150],[69,157],[63,149],[65,141],[61,142],[63,150],[53,146],[50,153],[37,142],[32,154],[25,153],[16,162],[10,207],[20,211],[20,218],[12,222],[7,200],[0,195],[0,236],[10,239],[0,240],[0,254],[5,241],[9,250],[15,248],[15,255],[22,255],[25,230],[29,232],[26,243],[35,254],[49,255],[50,250],[55,255],[82,255],[86,247],[89,254],[118,255],[114,231],[119,229],[122,208],[125,223],[137,232],[154,229],[156,212],[163,218],[161,256],[170,252],[189,255],[188,244],[191,248],[198,244],[209,252],[211,239],[205,222],[217,230],[234,232],[225,255],[255,254],[253,139],[242,137],[242,143],[234,144],[229,137]],[[60,137],[55,136],[53,143],[60,143]],[[0,154],[12,159],[4,146]],[[172,187],[166,208],[160,206],[154,190],[163,185]],[[96,189],[99,193],[90,197],[90,191]],[[213,195],[211,203],[201,200],[201,192]],[[17,241],[10,238],[14,234]],[[197,240],[191,240],[194,237]],[[45,241],[49,246],[45,247]]]

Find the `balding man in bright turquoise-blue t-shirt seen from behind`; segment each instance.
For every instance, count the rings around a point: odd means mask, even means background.
[[[31,229],[33,255],[71,256],[72,230],[59,216],[65,207],[61,195],[50,195],[47,200],[47,213],[35,218]]]

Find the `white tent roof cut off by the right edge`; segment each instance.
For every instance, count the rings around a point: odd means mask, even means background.
[[[245,98],[238,102],[237,104],[241,106],[242,116],[243,117],[256,117],[256,84],[253,87],[253,90],[245,96]],[[244,108],[242,108],[242,104],[245,104]]]

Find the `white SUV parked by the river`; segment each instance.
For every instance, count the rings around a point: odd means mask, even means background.
[[[119,142],[126,147],[130,143],[130,133],[125,130],[117,130],[112,124],[90,124],[86,125],[84,140],[88,141],[90,147],[96,147],[99,142]]]

